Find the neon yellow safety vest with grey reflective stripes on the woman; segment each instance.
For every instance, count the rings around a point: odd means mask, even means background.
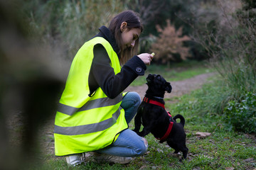
[[[55,117],[57,156],[102,149],[112,144],[119,132],[128,128],[124,109],[120,106],[122,94],[110,99],[98,88],[94,96],[88,96],[88,77],[96,44],[102,44],[107,50],[114,73],[121,70],[117,53],[104,38],[96,37],[82,45],[71,64]]]

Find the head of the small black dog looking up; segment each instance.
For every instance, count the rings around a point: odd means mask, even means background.
[[[171,93],[171,84],[159,74],[149,74],[146,77],[146,84],[149,86],[149,91],[163,94],[165,91]]]

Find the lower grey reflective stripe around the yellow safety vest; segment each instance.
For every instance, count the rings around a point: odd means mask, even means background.
[[[106,130],[107,128],[110,128],[114,123],[117,122],[117,118],[120,115],[119,109],[112,115],[112,118],[109,118],[107,120],[103,120],[100,123],[93,123],[90,125],[79,125],[79,126],[72,126],[72,127],[61,127],[58,125],[55,125],[54,133],[60,134],[60,135],[83,135],[87,133],[92,132],[99,132],[102,130]]]

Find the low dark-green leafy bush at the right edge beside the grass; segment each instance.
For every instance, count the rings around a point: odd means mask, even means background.
[[[248,92],[240,101],[230,101],[224,115],[225,122],[233,130],[256,132],[256,94]]]

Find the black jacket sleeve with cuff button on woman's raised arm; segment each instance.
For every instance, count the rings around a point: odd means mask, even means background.
[[[110,57],[107,55],[105,47],[98,44],[93,50],[94,58],[89,74],[90,94],[98,87],[109,98],[115,98],[129,86],[138,76],[144,75],[146,65],[142,60],[134,56],[121,69],[121,72],[114,74],[114,69],[110,66]]]

